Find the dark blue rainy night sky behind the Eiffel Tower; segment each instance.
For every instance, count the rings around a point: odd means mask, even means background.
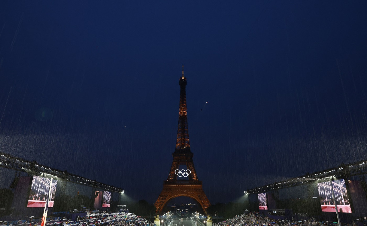
[[[183,64],[210,202],[367,159],[366,12],[365,0],[2,0],[0,149],[153,203]]]

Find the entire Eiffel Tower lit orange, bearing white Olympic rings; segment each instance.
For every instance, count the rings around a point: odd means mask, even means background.
[[[167,180],[163,182],[163,190],[155,202],[157,213],[161,213],[163,207],[172,198],[179,196],[190,197],[195,200],[206,213],[206,209],[210,206],[210,202],[206,197],[203,184],[197,179],[194,163],[192,161],[193,153],[190,150],[189,130],[187,125],[187,108],[186,108],[186,78],[183,76],[179,80],[180,90],[180,107],[178,115],[178,130],[175,152],[172,153],[173,161]],[[180,165],[186,165],[187,170],[179,169]],[[180,180],[187,178],[187,180]]]

